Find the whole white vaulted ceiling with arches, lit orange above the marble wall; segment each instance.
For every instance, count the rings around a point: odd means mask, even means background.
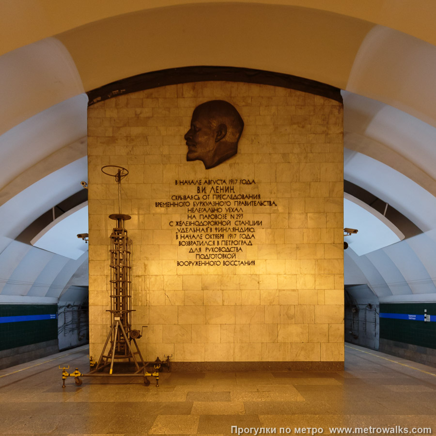
[[[409,0],[2,1],[0,302],[82,297],[86,250],[70,259],[33,247],[26,229],[80,197],[86,92],[196,65],[342,89],[345,220],[352,209],[372,214],[365,237],[376,242],[364,249],[350,236],[346,283],[368,284],[381,301],[435,300],[435,18],[432,2]],[[378,226],[404,238],[385,247]]]

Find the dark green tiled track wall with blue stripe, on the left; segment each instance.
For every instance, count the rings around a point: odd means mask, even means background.
[[[56,304],[0,304],[0,316],[45,315],[57,311]],[[57,338],[57,319],[0,323],[0,350]]]

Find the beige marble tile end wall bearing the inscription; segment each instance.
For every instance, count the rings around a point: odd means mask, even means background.
[[[237,155],[187,162],[193,109],[221,99]],[[200,82],[88,110],[90,347],[109,331],[109,234],[120,165],[133,240],[133,325],[147,359],[343,361],[343,106],[299,91]]]

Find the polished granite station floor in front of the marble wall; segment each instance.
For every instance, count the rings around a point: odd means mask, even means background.
[[[0,435],[230,435],[231,426],[436,432],[436,369],[355,345],[345,346],[345,371],[333,373],[162,373],[158,388],[154,379],[148,387],[141,378],[76,386],[69,377],[62,389],[58,365],[85,372],[87,352],[0,371]]]

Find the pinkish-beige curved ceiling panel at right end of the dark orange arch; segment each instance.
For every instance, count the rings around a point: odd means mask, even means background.
[[[376,26],[359,48],[344,89],[380,100],[436,126],[435,70],[434,45]]]

